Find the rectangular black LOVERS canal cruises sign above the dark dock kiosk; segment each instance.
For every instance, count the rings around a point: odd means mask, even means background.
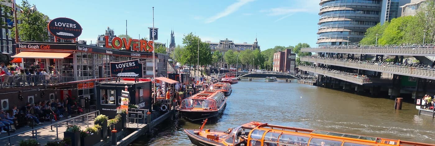
[[[111,77],[131,77],[142,78],[143,73],[142,63],[139,60],[128,60],[123,62],[110,62],[110,76]]]

